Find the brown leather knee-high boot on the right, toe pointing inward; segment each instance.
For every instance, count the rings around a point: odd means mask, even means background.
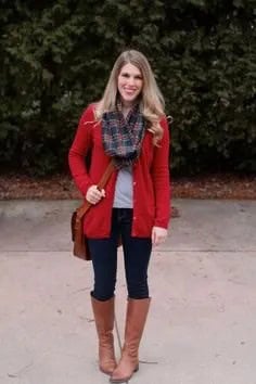
[[[151,298],[129,298],[126,315],[125,343],[121,358],[111,375],[111,383],[125,383],[139,369],[139,345]]]

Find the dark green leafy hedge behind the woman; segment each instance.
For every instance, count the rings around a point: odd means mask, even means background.
[[[79,115],[121,50],[150,60],[174,174],[256,171],[256,0],[0,0],[0,167],[67,169]]]

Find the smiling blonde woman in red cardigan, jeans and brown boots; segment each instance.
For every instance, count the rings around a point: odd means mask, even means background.
[[[85,166],[91,153],[90,169]],[[99,366],[112,383],[139,368],[138,349],[150,307],[148,267],[152,245],[167,236],[169,133],[164,100],[146,57],[135,50],[116,60],[100,102],[84,112],[69,151],[76,185],[93,206],[85,217],[94,272],[91,303]],[[110,159],[115,171],[99,191]],[[125,342],[119,362],[113,343],[117,247],[121,239],[128,290]]]

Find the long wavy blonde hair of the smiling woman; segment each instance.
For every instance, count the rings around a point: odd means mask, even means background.
[[[163,137],[163,128],[159,125],[159,120],[164,116],[165,101],[157,87],[149,61],[139,51],[125,51],[117,57],[103,97],[95,105],[95,118],[100,120],[103,113],[116,108],[118,98],[117,80],[123,66],[126,64],[132,64],[141,72],[143,86],[139,98],[139,107],[148,121],[148,130],[153,133],[153,143],[157,145],[157,142]]]

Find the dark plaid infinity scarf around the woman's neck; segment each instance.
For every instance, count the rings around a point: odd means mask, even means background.
[[[103,148],[117,168],[127,167],[139,157],[144,131],[145,120],[138,105],[126,118],[118,108],[103,114]]]

